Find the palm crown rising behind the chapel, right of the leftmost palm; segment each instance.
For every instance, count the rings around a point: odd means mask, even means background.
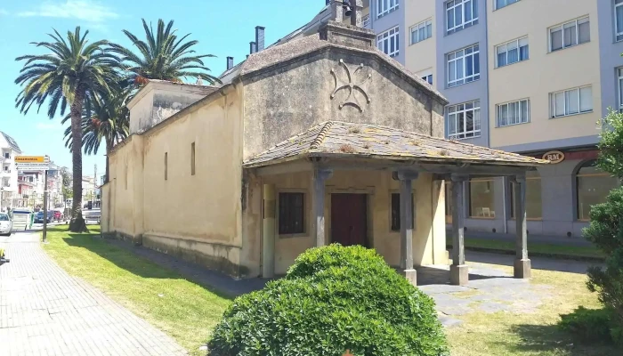
[[[184,42],[186,36],[178,38],[177,30],[173,28],[171,20],[165,27],[165,21],[158,20],[158,28],[154,33],[151,25],[142,19],[147,41],[140,40],[130,31],[123,30],[125,36],[138,48],[139,54],[132,52],[119,44],[110,44],[113,52],[120,54],[122,68],[134,74],[134,83],[146,84],[149,79],[162,79],[173,82],[182,82],[182,78],[194,77],[206,80],[209,84],[220,83],[217,77],[206,72],[210,71],[204,65],[202,58],[214,57],[212,54],[195,55],[191,48],[198,41]]]

